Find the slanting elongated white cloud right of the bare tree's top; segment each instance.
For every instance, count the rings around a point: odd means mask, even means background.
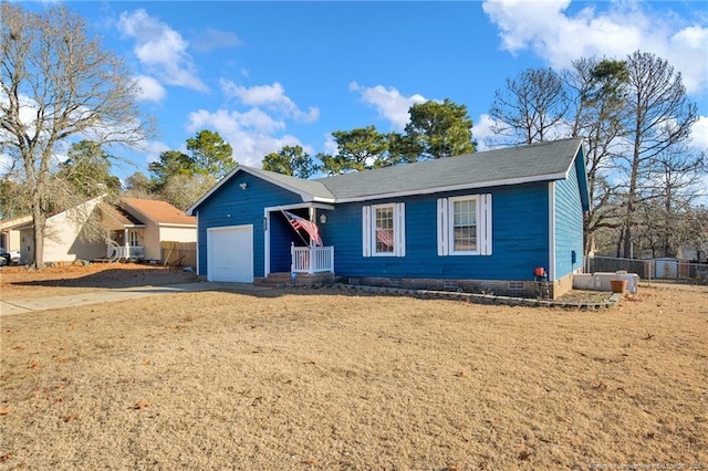
[[[197,76],[197,67],[187,53],[189,43],[177,31],[143,9],[121,13],[118,30],[135,40],[133,52],[164,83],[200,92],[209,91]]]

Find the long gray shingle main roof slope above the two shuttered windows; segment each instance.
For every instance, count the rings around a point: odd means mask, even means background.
[[[434,192],[563,178],[581,138],[466,154],[458,157],[320,178],[337,199]]]

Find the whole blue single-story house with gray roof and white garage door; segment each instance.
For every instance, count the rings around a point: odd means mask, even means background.
[[[587,209],[583,142],[573,138],[312,180],[238,166],[187,213],[208,281],[326,273],[535,296],[545,279],[558,297],[582,270]],[[285,212],[316,223],[323,247]]]

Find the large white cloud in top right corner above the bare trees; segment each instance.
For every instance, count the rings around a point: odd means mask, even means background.
[[[680,71],[689,94],[706,93],[708,27],[697,24],[700,19],[653,12],[634,1],[603,2],[603,11],[590,6],[571,15],[570,3],[486,0],[482,8],[500,30],[502,49],[513,54],[530,49],[560,69],[580,57],[623,59],[641,50]]]

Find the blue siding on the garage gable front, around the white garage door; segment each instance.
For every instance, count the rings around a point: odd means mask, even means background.
[[[239,185],[246,182],[247,188],[241,189]],[[198,240],[199,240],[199,273],[207,274],[207,229],[226,226],[253,224],[253,275],[264,274],[264,232],[263,232],[263,208],[279,205],[293,205],[302,202],[299,195],[288,191],[279,186],[269,184],[247,172],[236,174],[230,181],[219,188],[214,195],[206,199],[196,211],[199,214]],[[271,266],[272,258],[275,262],[282,263],[282,258],[288,259],[290,270],[290,239],[288,242],[273,242],[273,236],[287,237],[289,229],[287,221],[275,221],[271,218]],[[293,234],[298,237],[296,234]],[[287,245],[284,249],[282,245]],[[282,251],[287,250],[287,255]]]

